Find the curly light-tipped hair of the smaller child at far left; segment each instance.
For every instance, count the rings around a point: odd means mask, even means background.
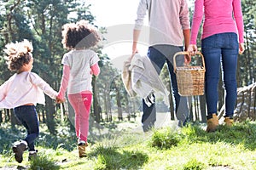
[[[10,71],[20,71],[20,68],[32,59],[32,43],[26,39],[22,42],[8,43],[5,47],[5,59]]]

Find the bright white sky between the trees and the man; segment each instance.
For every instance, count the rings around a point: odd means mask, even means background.
[[[90,12],[96,17],[96,26],[108,29],[107,43],[102,52],[110,59],[131,55],[132,31],[137,18],[139,0],[87,0]],[[145,25],[147,26],[147,18]],[[138,45],[143,54],[147,51],[146,45]]]

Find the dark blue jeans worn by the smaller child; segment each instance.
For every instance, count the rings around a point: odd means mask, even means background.
[[[34,105],[21,105],[15,107],[15,116],[26,127],[26,143],[28,150],[35,150],[34,141],[39,136],[38,113]]]

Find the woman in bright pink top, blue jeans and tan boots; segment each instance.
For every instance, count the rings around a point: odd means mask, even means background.
[[[227,126],[233,124],[236,105],[236,64],[244,51],[241,0],[195,0],[188,51],[197,51],[196,37],[204,16],[201,49],[206,62],[207,132],[218,127],[218,80],[222,66]]]

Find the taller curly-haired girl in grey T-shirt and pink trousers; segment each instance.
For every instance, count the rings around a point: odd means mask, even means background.
[[[64,25],[62,37],[64,48],[70,51],[64,54],[61,61],[64,66],[58,97],[64,99],[67,90],[69,102],[75,111],[79,157],[83,157],[86,156],[85,147],[88,145],[91,78],[92,75],[98,76],[100,73],[99,57],[90,48],[100,41],[100,37],[96,28],[85,20]]]

